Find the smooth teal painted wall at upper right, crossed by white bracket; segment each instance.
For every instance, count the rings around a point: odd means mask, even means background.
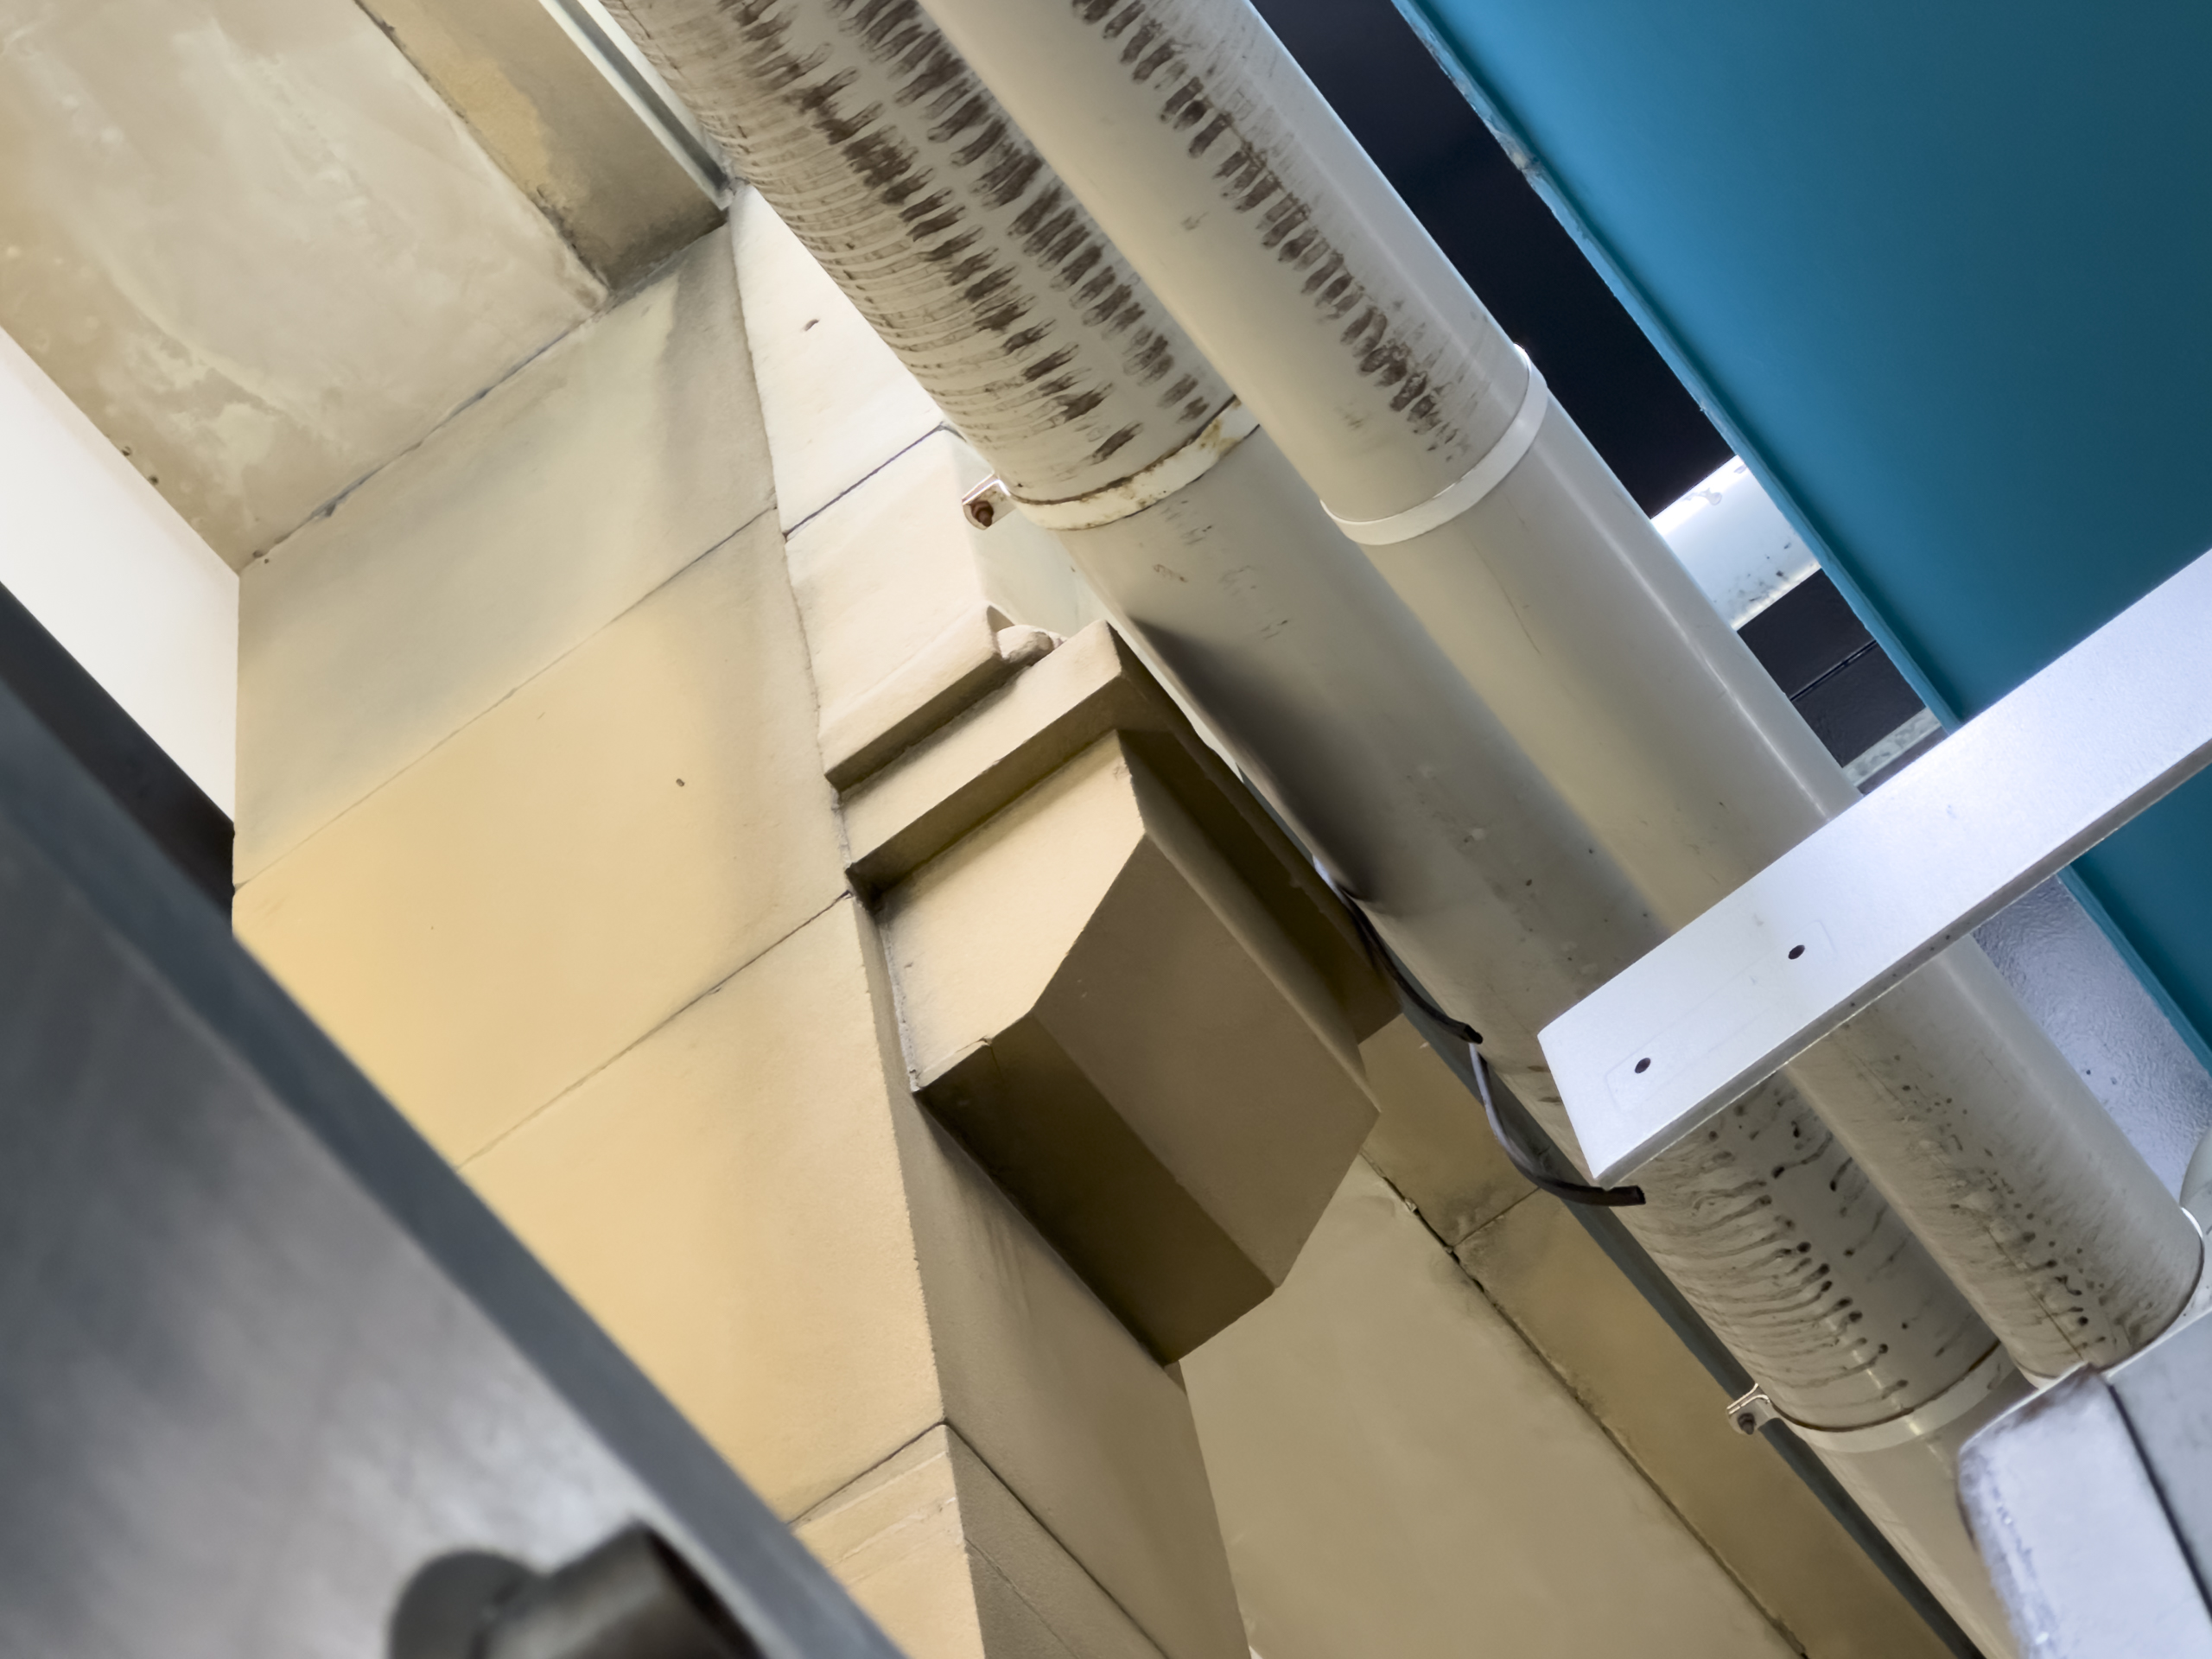
[[[1947,721],[2212,549],[2212,7],[1400,4]],[[2077,876],[2203,1051],[2212,776]]]

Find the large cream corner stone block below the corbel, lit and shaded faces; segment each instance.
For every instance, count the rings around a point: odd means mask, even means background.
[[[898,1086],[860,929],[836,905],[465,1175],[781,1515],[949,1420],[1018,1493],[993,1520],[971,1491],[958,1522],[991,1564],[975,1628],[1013,1632],[991,1659],[1057,1652],[1031,1615],[1068,1652],[1141,1655],[1141,1630],[1234,1659],[1188,1400]],[[834,1557],[818,1520],[801,1535]],[[863,1604],[958,1624],[933,1577],[958,1557],[896,1544],[869,1544],[889,1601]]]

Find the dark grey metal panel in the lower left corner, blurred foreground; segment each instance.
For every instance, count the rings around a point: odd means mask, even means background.
[[[372,1659],[630,1520],[896,1652],[0,692],[0,1657]]]

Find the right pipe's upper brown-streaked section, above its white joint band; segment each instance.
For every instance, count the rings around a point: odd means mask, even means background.
[[[1504,436],[1526,365],[1256,11],[929,9],[1199,347],[1270,361],[1230,380],[1329,511],[1416,507]]]

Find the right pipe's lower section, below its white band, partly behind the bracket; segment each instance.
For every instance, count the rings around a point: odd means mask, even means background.
[[[1858,801],[1564,411],[1374,564],[1668,929]],[[1973,940],[1787,1075],[2028,1371],[2112,1365],[2188,1301],[2197,1230]]]

